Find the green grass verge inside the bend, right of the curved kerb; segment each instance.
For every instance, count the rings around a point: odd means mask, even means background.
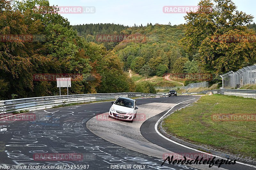
[[[190,143],[255,160],[255,122],[212,120],[214,114],[255,114],[255,110],[255,99],[206,95],[190,107],[168,116],[163,127],[167,133]]]

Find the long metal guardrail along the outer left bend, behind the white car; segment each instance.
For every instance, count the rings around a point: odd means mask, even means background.
[[[47,96],[35,97],[15,100],[2,100],[0,101],[0,115],[12,113],[20,110],[42,110],[52,108],[68,103],[90,102],[99,100],[112,100],[119,96],[123,97],[148,97],[148,96],[161,96],[161,94],[148,94],[148,93],[103,93],[103,94],[78,94],[68,96]]]

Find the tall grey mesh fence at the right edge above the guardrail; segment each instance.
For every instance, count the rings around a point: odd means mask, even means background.
[[[236,72],[229,71],[220,75],[222,78],[222,87],[224,89],[236,89],[243,85],[255,84],[256,64],[244,67]]]

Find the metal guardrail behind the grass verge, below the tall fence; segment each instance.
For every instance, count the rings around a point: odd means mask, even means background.
[[[182,94],[200,94],[200,93],[209,94],[210,92],[212,92],[213,94],[241,96],[241,97],[256,99],[256,90],[220,89],[220,90],[206,90],[202,92],[191,92],[191,93],[182,93]]]

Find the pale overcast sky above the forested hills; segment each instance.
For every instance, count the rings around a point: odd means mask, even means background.
[[[71,25],[114,23],[125,26],[147,23],[184,24],[184,13],[164,13],[164,6],[196,6],[199,0],[49,0],[50,5],[95,7],[92,13],[60,14]],[[256,17],[255,0],[233,0],[238,11]],[[87,9],[88,10],[88,9]],[[94,12],[94,13],[93,13]],[[254,22],[255,22],[254,18]]]

